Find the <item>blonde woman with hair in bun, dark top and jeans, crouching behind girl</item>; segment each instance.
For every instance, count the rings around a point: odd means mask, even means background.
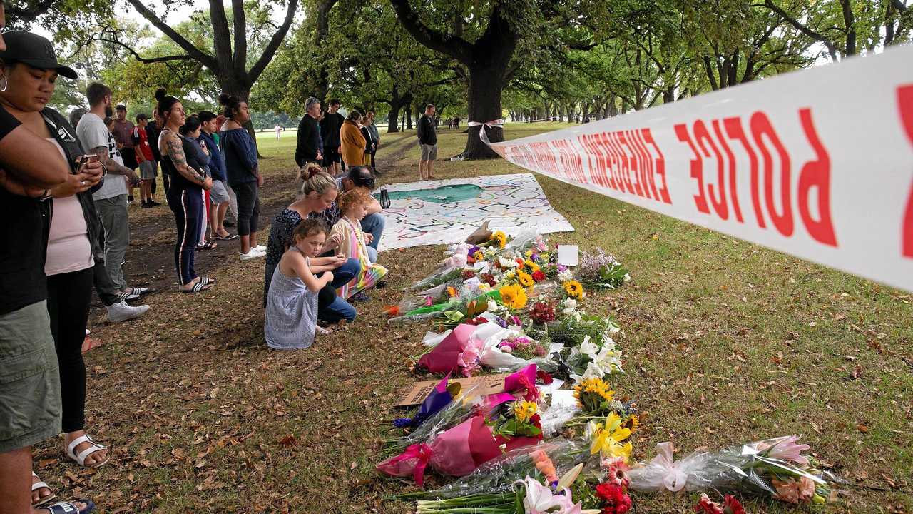
[[[266,305],[269,294],[269,283],[276,271],[282,255],[295,244],[292,233],[301,220],[307,219],[312,212],[321,212],[332,205],[339,194],[339,185],[330,174],[317,164],[309,163],[299,171],[299,196],[288,208],[282,209],[276,215],[269,229],[267,243],[267,262],[263,280],[263,302]],[[330,230],[330,227],[327,227]],[[341,237],[327,238],[323,243],[321,253],[331,252],[339,247]],[[323,262],[326,260],[327,262]],[[318,316],[328,323],[336,323],[341,319],[352,321],[355,318],[355,309],[344,300],[336,301],[335,288],[346,284],[361,271],[361,265],[356,259],[340,259],[337,255],[312,259],[314,265],[332,264],[333,280],[320,292],[318,303]]]

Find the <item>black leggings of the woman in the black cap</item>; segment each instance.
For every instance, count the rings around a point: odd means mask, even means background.
[[[86,424],[86,363],[82,341],[86,338],[89,303],[92,301],[92,268],[47,277],[47,314],[60,368],[63,431],[82,430]]]

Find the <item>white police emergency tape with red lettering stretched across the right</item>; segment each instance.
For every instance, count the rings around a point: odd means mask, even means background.
[[[913,291],[913,48],[491,146],[542,175]]]

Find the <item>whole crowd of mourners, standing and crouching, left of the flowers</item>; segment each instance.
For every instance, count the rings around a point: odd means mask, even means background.
[[[2,14],[0,4],[0,22]],[[180,293],[215,287],[215,278],[197,272],[196,252],[237,240],[241,261],[265,258],[268,346],[307,348],[354,320],[353,304],[385,284],[387,269],[377,262],[384,218],[372,195],[381,138],[373,112],[343,116],[339,101],[323,111],[310,98],[295,150],[296,198],[261,244],[264,177],[245,126],[247,102],[222,94],[221,113],[189,113],[160,89],[152,114],[137,112],[133,123],[126,105],[114,107],[110,87],[91,82],[89,109],[67,119],[47,103],[58,77],[77,73],[58,61],[47,38],[7,32],[0,59],[0,505],[14,514],[85,513],[94,509],[89,499],[53,503],[52,487],[30,472],[31,446],[62,433],[61,449],[76,465],[110,460],[87,427],[82,355],[93,290],[114,323],[150,308],[131,305],[152,291],[131,284],[124,269],[135,190],[142,209],[157,208],[161,177]],[[433,178],[430,119],[419,126],[423,177]]]

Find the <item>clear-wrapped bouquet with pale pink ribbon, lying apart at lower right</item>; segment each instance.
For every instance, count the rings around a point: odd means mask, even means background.
[[[771,496],[789,503],[824,503],[832,498],[834,477],[803,455],[795,435],[709,452],[698,450],[674,460],[671,443],[656,445],[656,456],[629,473],[631,488],[658,492],[729,490]]]

